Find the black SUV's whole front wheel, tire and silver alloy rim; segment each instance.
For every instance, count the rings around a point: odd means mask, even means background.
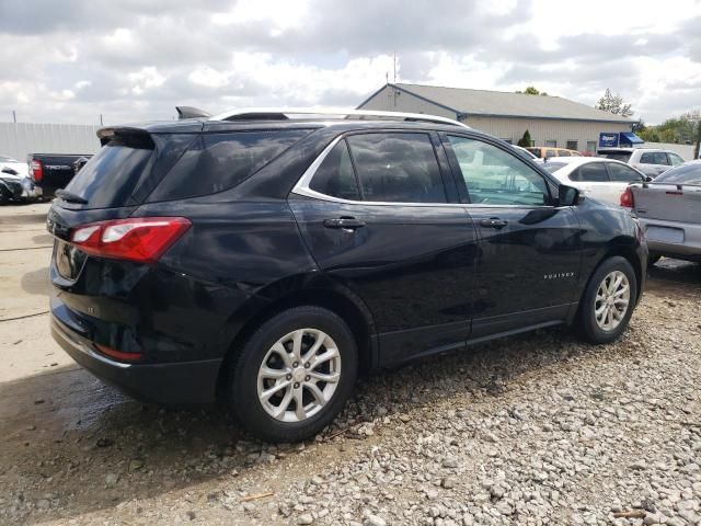
[[[621,285],[616,286],[621,276],[624,276],[621,278]],[[627,293],[625,282],[628,283]],[[614,286],[616,289],[610,293],[609,289]],[[612,299],[608,299],[609,297]],[[621,312],[623,306],[621,300],[628,300],[624,312]],[[628,260],[621,256],[605,260],[591,274],[579,302],[578,328],[582,335],[596,344],[617,340],[628,328],[636,300],[637,278]],[[606,315],[607,307],[610,315]],[[601,310],[602,308],[604,310]],[[597,316],[597,309],[599,316]],[[604,312],[604,316],[600,312]],[[609,317],[607,318],[607,316]]]

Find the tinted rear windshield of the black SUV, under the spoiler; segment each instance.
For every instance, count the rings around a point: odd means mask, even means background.
[[[148,135],[115,137],[85,163],[66,191],[85,199],[87,208],[126,206],[137,181],[150,169],[153,152]]]

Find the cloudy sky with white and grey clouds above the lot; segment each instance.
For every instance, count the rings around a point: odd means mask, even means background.
[[[391,80],[394,50],[404,81],[533,84],[587,104],[611,88],[647,123],[701,106],[698,0],[2,1],[0,118],[355,106]]]

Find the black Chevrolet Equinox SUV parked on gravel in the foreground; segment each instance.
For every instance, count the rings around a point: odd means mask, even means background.
[[[99,137],[47,218],[54,338],[138,398],[226,397],[265,439],[319,432],[360,370],[559,323],[611,342],[642,293],[629,211],[456,122],[232,113]]]

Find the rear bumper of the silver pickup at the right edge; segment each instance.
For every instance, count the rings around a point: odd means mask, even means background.
[[[701,225],[642,217],[640,222],[647,237],[651,253],[701,260]],[[669,236],[665,236],[665,231],[668,231]]]

